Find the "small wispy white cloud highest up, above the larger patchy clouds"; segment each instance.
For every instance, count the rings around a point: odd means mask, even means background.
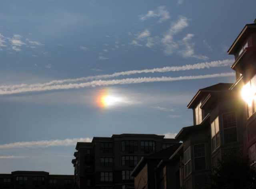
[[[157,10],[150,10],[147,14],[141,15],[140,20],[145,21],[149,18],[153,17],[160,17],[158,22],[164,22],[165,20],[168,20],[170,18],[169,12],[166,10],[164,6],[160,6],[157,8]]]

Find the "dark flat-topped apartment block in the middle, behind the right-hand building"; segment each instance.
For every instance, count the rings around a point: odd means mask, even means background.
[[[120,134],[78,142],[72,160],[75,185],[78,189],[134,188],[130,174],[140,159],[177,143],[155,134]]]

